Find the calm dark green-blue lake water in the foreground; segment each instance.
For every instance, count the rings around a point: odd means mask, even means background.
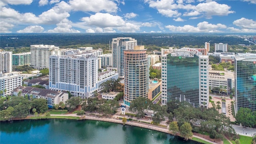
[[[154,130],[92,120],[18,120],[0,124],[0,144],[199,144]]]

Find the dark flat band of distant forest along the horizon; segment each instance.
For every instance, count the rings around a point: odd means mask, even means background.
[[[198,46],[204,47],[205,42],[227,43],[229,45],[245,44],[249,45],[248,41],[239,38],[236,35],[227,34],[198,34],[198,33],[150,33],[150,34],[1,34],[0,47],[28,47],[32,44],[47,44],[55,45],[60,48],[70,45],[95,45],[109,44],[112,38],[117,37],[132,37],[135,38],[138,44],[154,45],[154,46]],[[106,45],[105,45],[106,46]],[[108,47],[108,46],[106,46]]]

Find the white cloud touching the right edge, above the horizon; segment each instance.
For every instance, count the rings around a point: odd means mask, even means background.
[[[256,21],[247,18],[235,20],[233,24],[239,26],[240,28],[256,29]]]

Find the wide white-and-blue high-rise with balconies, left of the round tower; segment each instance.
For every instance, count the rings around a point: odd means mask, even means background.
[[[49,58],[49,89],[89,98],[98,89],[98,57],[82,52]]]

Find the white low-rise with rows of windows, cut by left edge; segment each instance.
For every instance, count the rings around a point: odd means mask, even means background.
[[[23,76],[14,73],[0,73],[0,96],[10,95],[17,86],[22,86]]]

